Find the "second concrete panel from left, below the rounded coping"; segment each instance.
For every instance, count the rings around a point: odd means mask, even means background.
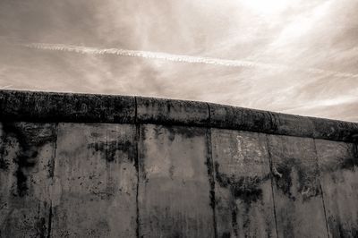
[[[60,123],[54,237],[135,237],[135,126]]]

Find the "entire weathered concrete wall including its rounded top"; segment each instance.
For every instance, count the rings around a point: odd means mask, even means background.
[[[0,237],[358,237],[358,124],[0,91]]]

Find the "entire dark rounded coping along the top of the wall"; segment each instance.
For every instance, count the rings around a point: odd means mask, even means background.
[[[346,142],[358,140],[358,123],[195,101],[95,94],[0,90],[0,120],[160,123]]]

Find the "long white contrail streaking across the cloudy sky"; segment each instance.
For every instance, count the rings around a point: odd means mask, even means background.
[[[171,62],[182,62],[189,64],[214,64],[226,67],[257,67],[261,69],[277,69],[277,70],[290,70],[290,71],[303,71],[310,73],[319,73],[331,76],[357,78],[358,74],[349,72],[336,72],[326,71],[315,68],[300,69],[296,67],[286,66],[283,64],[263,64],[258,62],[243,61],[243,60],[226,60],[212,57],[192,56],[192,55],[173,55],[164,52],[152,52],[141,50],[128,50],[122,48],[98,48],[98,47],[81,47],[74,45],[64,44],[47,44],[47,43],[30,43],[30,44],[18,44],[21,47],[30,47],[43,50],[55,50],[55,51],[67,51],[75,52],[79,54],[90,55],[121,55],[130,57],[141,57],[148,59],[159,59]]]

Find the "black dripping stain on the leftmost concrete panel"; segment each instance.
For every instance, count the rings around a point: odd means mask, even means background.
[[[55,125],[46,123],[3,123],[4,138],[13,137],[19,143],[19,150],[13,163],[17,166],[14,175],[16,177],[16,191],[14,196],[24,196],[28,191],[28,174],[31,168],[36,166],[38,151],[47,143],[55,142]],[[4,152],[1,157],[4,158]],[[3,167],[7,168],[8,162],[2,159]],[[4,166],[6,165],[6,166]]]

